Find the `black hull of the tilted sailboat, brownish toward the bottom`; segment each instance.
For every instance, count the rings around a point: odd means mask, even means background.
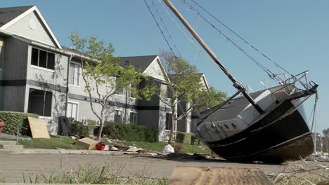
[[[314,145],[307,123],[298,109],[285,115],[295,105],[282,102],[243,132],[206,144],[228,160],[280,163],[309,156]]]

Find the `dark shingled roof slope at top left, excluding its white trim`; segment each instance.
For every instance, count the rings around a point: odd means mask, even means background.
[[[17,7],[8,7],[0,8],[0,27],[6,25],[11,20],[18,17],[18,15],[25,13],[28,9],[33,6],[17,6]]]

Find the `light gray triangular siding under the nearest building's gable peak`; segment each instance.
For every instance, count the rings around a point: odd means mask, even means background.
[[[30,27],[31,20],[35,23],[34,29]],[[46,27],[44,27],[34,11],[8,27],[6,32],[31,39],[32,41],[39,41],[40,43],[45,43],[49,46],[55,46],[51,36],[46,31]]]

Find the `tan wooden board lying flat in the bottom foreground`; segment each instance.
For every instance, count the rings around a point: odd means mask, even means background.
[[[169,184],[272,184],[262,170],[243,168],[176,167]]]

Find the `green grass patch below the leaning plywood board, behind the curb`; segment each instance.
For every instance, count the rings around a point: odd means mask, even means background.
[[[15,139],[1,138],[3,141],[15,141]],[[18,144],[24,146],[25,149],[83,149],[82,146],[75,144],[75,139],[65,136],[51,136],[50,139],[35,138],[31,140],[18,140]]]

